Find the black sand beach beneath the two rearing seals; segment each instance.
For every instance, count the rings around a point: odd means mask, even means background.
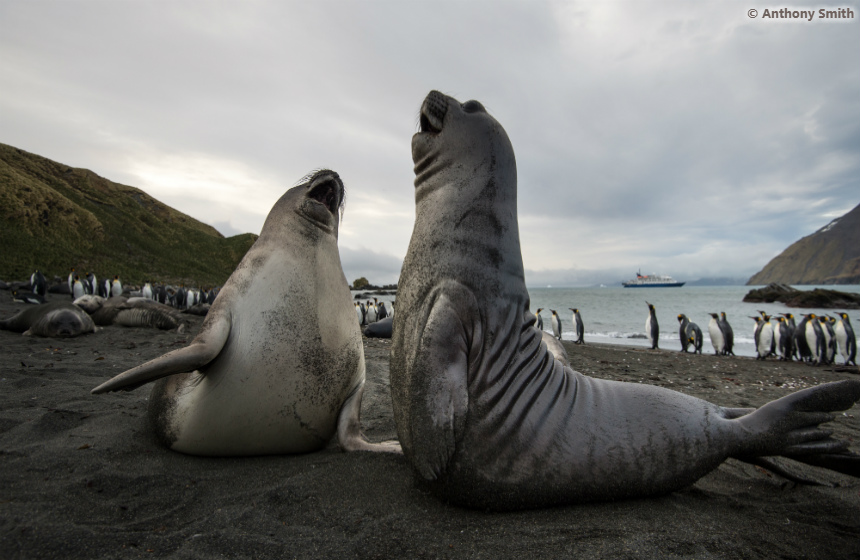
[[[60,296],[49,296],[49,299]],[[0,292],[0,318],[22,304]],[[860,480],[785,461],[800,486],[729,460],[668,496],[515,513],[448,506],[400,456],[211,459],[161,447],[148,388],[102,381],[189,342],[108,327],[74,339],[0,331],[2,558],[860,558]],[[856,378],[798,363],[566,345],[575,369],[726,406]],[[386,340],[366,339],[362,423],[396,437]],[[831,423],[860,450],[860,407]]]

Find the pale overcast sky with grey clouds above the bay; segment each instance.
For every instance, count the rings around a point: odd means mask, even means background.
[[[0,142],[228,236],[334,169],[347,279],[388,283],[438,89],[511,138],[529,285],[744,277],[860,203],[858,4],[0,0]]]

